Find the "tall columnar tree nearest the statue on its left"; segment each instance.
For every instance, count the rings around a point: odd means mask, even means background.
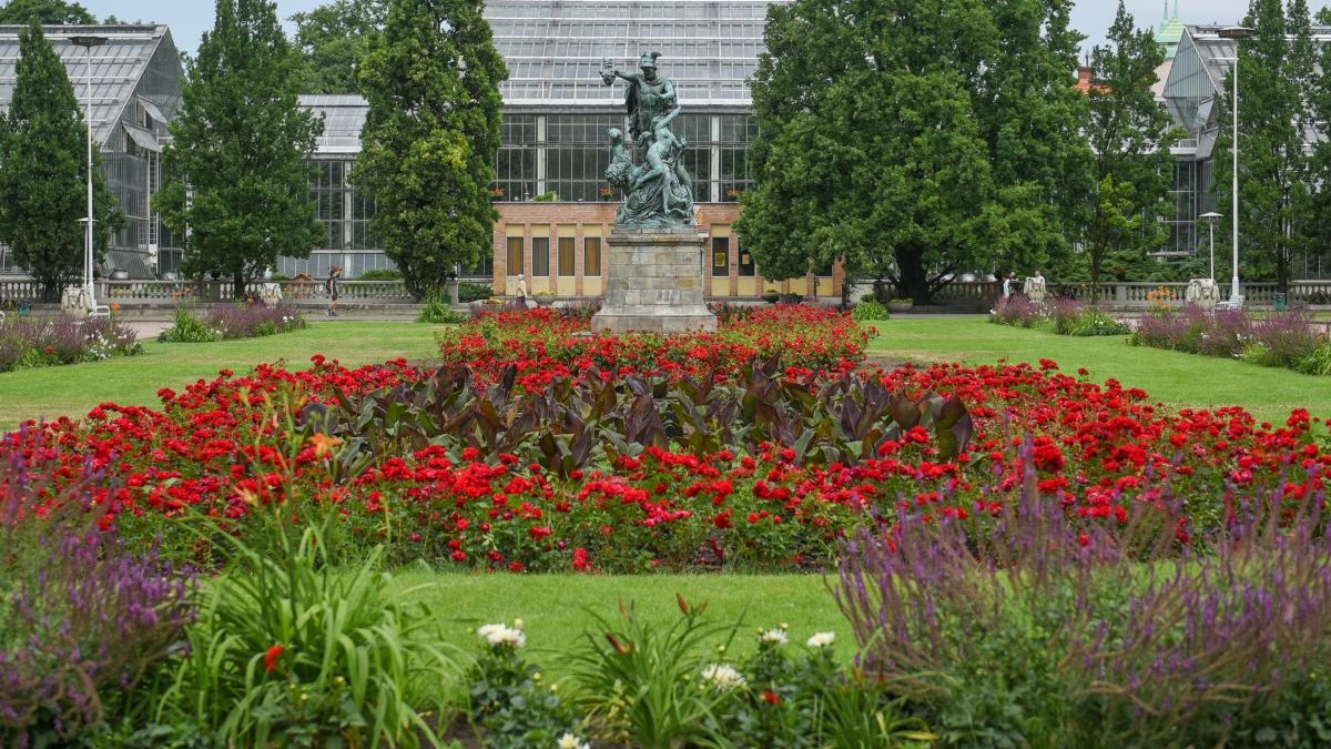
[[[370,231],[422,296],[491,252],[490,201],[507,67],[482,0],[389,0],[365,59],[370,104],[353,180]]]

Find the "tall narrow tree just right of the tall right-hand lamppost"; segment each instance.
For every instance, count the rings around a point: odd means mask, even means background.
[[[1252,0],[1243,24],[1255,36],[1239,43],[1239,259],[1244,277],[1275,279],[1288,288],[1294,259],[1315,231],[1308,81],[1312,41],[1308,7],[1292,0]],[[1233,199],[1234,75],[1226,77],[1215,147],[1217,197]]]

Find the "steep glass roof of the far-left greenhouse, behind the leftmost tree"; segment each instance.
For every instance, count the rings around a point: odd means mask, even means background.
[[[19,32],[24,27],[0,25],[0,107],[13,97],[15,71],[19,63]],[[45,27],[47,41],[65,64],[65,73],[75,87],[79,109],[88,105],[89,52],[69,41],[71,36],[105,36],[106,44],[91,48],[93,137],[105,143],[133,99],[134,88],[149,60],[168,35],[164,25],[63,25]]]

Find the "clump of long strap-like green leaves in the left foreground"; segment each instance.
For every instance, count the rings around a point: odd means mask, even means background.
[[[313,516],[317,509],[310,508]],[[335,510],[334,510],[335,513]],[[457,666],[437,616],[390,593],[382,548],[333,565],[331,521],[276,502],[230,546],[162,725],[218,746],[435,746]],[[221,528],[220,528],[221,530]]]

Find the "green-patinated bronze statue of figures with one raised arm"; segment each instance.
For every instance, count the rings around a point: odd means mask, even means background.
[[[643,53],[640,73],[624,73],[608,59],[600,71],[606,85],[616,77],[630,83],[624,96],[628,109],[628,135],[643,161],[635,165],[628,157],[624,135],[619,128],[610,131],[612,161],[606,169],[611,185],[628,192],[619,207],[615,223],[630,227],[672,227],[693,224],[693,181],[684,169],[680,156],[687,141],[669,129],[679,116],[675,84],[656,72],[659,52]]]

